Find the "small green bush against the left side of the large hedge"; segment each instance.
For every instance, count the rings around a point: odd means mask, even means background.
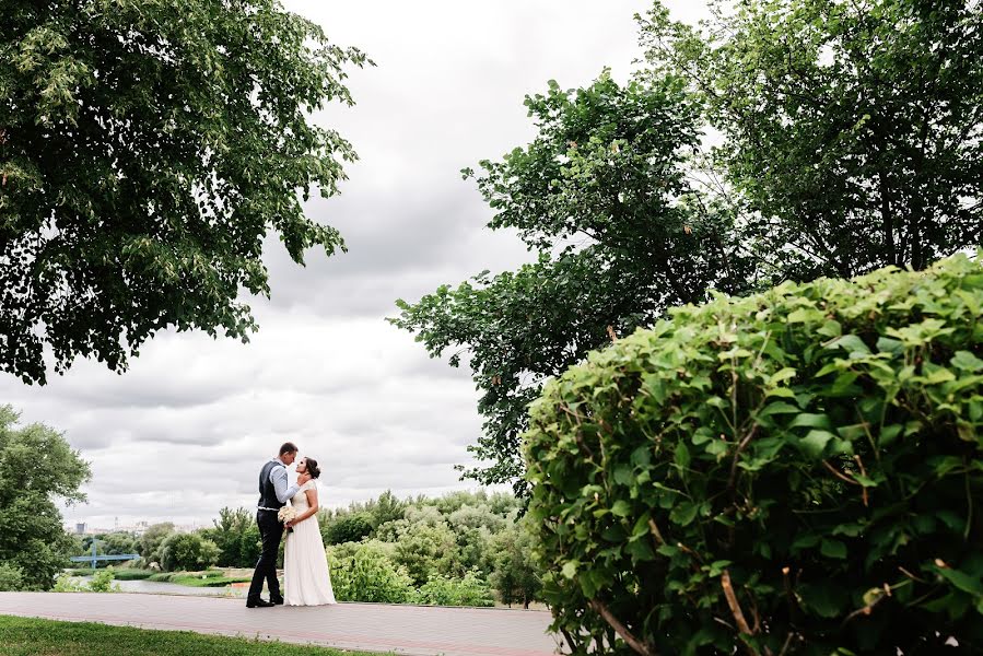
[[[510,526],[498,534],[491,548],[493,571],[489,583],[498,590],[499,600],[512,606],[529,602],[542,596],[542,577],[534,562],[535,540],[527,520]]]

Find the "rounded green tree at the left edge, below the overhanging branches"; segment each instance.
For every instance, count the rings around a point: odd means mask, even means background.
[[[5,585],[20,572],[21,587],[49,589],[74,544],[55,501],[84,501],[91,473],[60,433],[19,419],[0,406],[0,567]]]

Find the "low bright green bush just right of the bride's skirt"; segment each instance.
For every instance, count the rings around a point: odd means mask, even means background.
[[[339,601],[406,604],[413,582],[379,542],[349,542],[328,548],[331,585]]]

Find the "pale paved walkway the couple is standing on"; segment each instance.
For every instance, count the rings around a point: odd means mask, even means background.
[[[0,593],[0,614],[102,622],[419,656],[549,656],[538,610],[339,604],[246,608],[242,599],[122,593]]]

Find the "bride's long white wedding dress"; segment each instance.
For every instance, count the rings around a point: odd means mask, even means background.
[[[290,505],[297,515],[311,507],[307,490],[313,488],[314,481],[307,481],[291,499]],[[286,606],[336,604],[316,513],[294,525],[293,531],[286,534],[286,544],[283,547],[283,602]]]

